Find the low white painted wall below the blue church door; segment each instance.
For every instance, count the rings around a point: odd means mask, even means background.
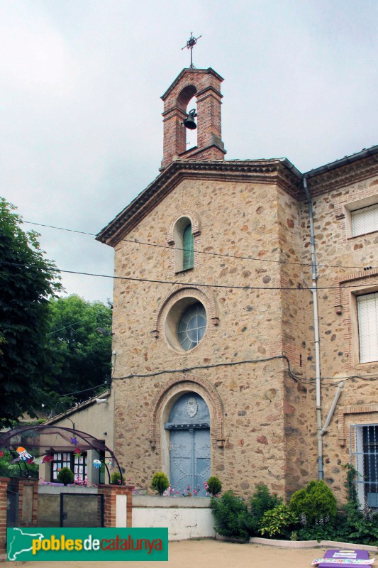
[[[133,496],[133,527],[168,527],[168,540],[215,537],[210,500]]]

